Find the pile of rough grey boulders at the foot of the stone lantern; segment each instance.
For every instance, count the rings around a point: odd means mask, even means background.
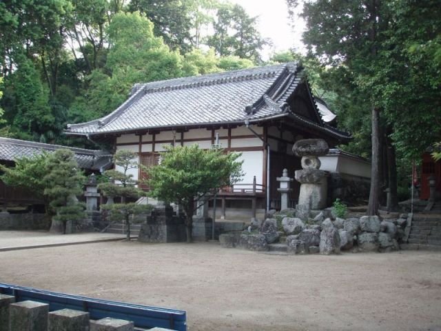
[[[324,217],[327,218],[324,219]],[[329,216],[329,217],[328,217]],[[289,254],[338,254],[351,252],[390,252],[399,250],[404,237],[407,214],[396,219],[380,219],[378,216],[340,219],[327,210],[314,219],[296,217],[296,210],[272,213],[260,228],[252,228],[236,234],[221,234],[220,245],[226,248],[267,251],[271,244],[286,245]]]

